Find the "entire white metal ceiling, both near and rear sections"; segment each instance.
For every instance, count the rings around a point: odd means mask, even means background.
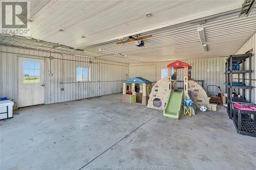
[[[223,12],[241,7],[243,1],[32,2],[31,33],[35,39],[1,35],[1,44],[137,63],[228,56],[236,53],[256,31],[256,9],[251,11],[249,17],[238,17],[238,13],[234,13],[211,19],[206,17],[208,20],[204,25],[199,25],[198,22],[175,25],[175,23],[200,18],[200,16],[209,16],[216,11]],[[86,12],[83,14],[84,11]],[[152,12],[152,17],[145,18],[143,15],[147,12]],[[152,30],[170,23],[173,26]],[[202,27],[205,30],[208,52],[203,51],[197,34],[197,29]],[[63,32],[58,32],[59,29],[63,29]],[[84,39],[81,39],[83,33],[81,30],[85,30],[86,38]],[[140,35],[152,34],[151,38],[145,39],[145,47],[137,47],[134,43],[115,44],[118,41],[115,37],[125,37],[129,33],[143,32],[143,30],[150,31]],[[36,39],[54,43],[45,44],[42,41],[37,42]],[[111,39],[113,40],[108,41]],[[104,43],[88,46],[96,42]],[[56,43],[71,44],[70,46],[79,47],[84,51],[63,45],[58,46]],[[100,48],[139,59],[112,55],[99,51]]]

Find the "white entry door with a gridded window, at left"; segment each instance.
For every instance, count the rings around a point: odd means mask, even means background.
[[[44,60],[18,57],[18,107],[44,101]]]

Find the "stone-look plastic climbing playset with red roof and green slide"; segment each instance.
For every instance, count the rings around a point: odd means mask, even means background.
[[[179,119],[183,99],[191,99],[195,105],[192,114],[195,115],[196,108],[207,106],[208,110],[216,111],[217,105],[210,104],[207,93],[197,82],[191,80],[191,66],[182,61],[175,61],[167,65],[168,77],[159,80],[153,87],[149,96],[148,108],[164,110],[164,116]],[[184,69],[183,90],[177,88],[177,70]],[[174,80],[171,70],[174,69]]]

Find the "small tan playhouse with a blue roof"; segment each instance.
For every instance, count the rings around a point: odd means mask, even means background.
[[[147,105],[152,82],[142,77],[134,77],[123,82],[123,102]]]

